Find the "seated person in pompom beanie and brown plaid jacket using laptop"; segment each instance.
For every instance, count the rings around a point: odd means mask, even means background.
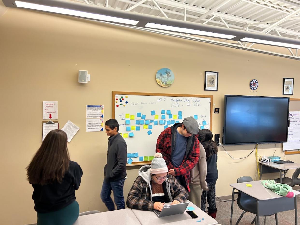
[[[168,175],[166,161],[161,153],[155,153],[151,166],[143,166],[128,193],[128,208],[161,211],[165,202],[171,205],[185,202],[188,193],[176,178]]]

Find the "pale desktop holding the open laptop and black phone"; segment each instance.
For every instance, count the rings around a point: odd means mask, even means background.
[[[187,201],[190,202],[190,201]],[[170,204],[170,203],[169,203]],[[167,205],[167,203],[166,203]],[[187,225],[187,224],[196,224],[196,221],[201,219],[201,222],[199,224],[201,225],[213,225],[217,224],[217,220],[214,220],[212,217],[210,217],[208,214],[203,212],[200,208],[198,208],[196,205],[194,205],[192,202],[187,207],[192,206],[195,208],[193,212],[197,214],[199,217],[198,219],[192,219],[187,213],[183,214],[176,214],[172,216],[164,216],[164,217],[158,217],[153,211],[144,211],[144,210],[138,210],[138,209],[132,209],[135,216],[138,218],[140,223],[142,225],[156,225],[156,224],[178,224],[178,225]],[[189,211],[186,209],[186,211]],[[204,220],[202,220],[204,218]]]

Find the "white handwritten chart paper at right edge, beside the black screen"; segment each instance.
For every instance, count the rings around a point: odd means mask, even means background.
[[[289,128],[287,142],[283,143],[283,151],[300,149],[300,112],[289,112]]]

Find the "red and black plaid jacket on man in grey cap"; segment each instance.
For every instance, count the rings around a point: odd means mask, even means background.
[[[199,140],[195,135],[192,136],[194,139],[192,150],[189,152],[188,155],[187,154],[184,155],[180,167],[175,168],[171,163],[172,146],[174,146],[173,143],[174,141],[172,140],[173,127],[165,129],[158,136],[155,152],[160,152],[163,155],[163,158],[166,161],[169,170],[174,168],[175,176],[182,175],[184,177],[187,189],[188,191],[190,191],[190,187],[189,187],[190,171],[196,166],[200,155]],[[173,129],[176,130],[176,127],[174,127]]]

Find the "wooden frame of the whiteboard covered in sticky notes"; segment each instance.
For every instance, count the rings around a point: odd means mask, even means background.
[[[166,94],[166,93],[143,93],[143,92],[126,92],[126,91],[113,91],[112,92],[112,118],[115,118],[115,96],[116,95],[150,95],[150,96],[168,96],[168,97],[197,97],[197,98],[210,98],[210,118],[209,118],[209,129],[212,129],[212,95],[186,95],[186,94]],[[300,99],[299,99],[300,101]],[[299,152],[300,153],[300,152]],[[132,164],[126,164],[126,166],[137,166],[137,165],[149,165],[151,161],[133,162]]]

